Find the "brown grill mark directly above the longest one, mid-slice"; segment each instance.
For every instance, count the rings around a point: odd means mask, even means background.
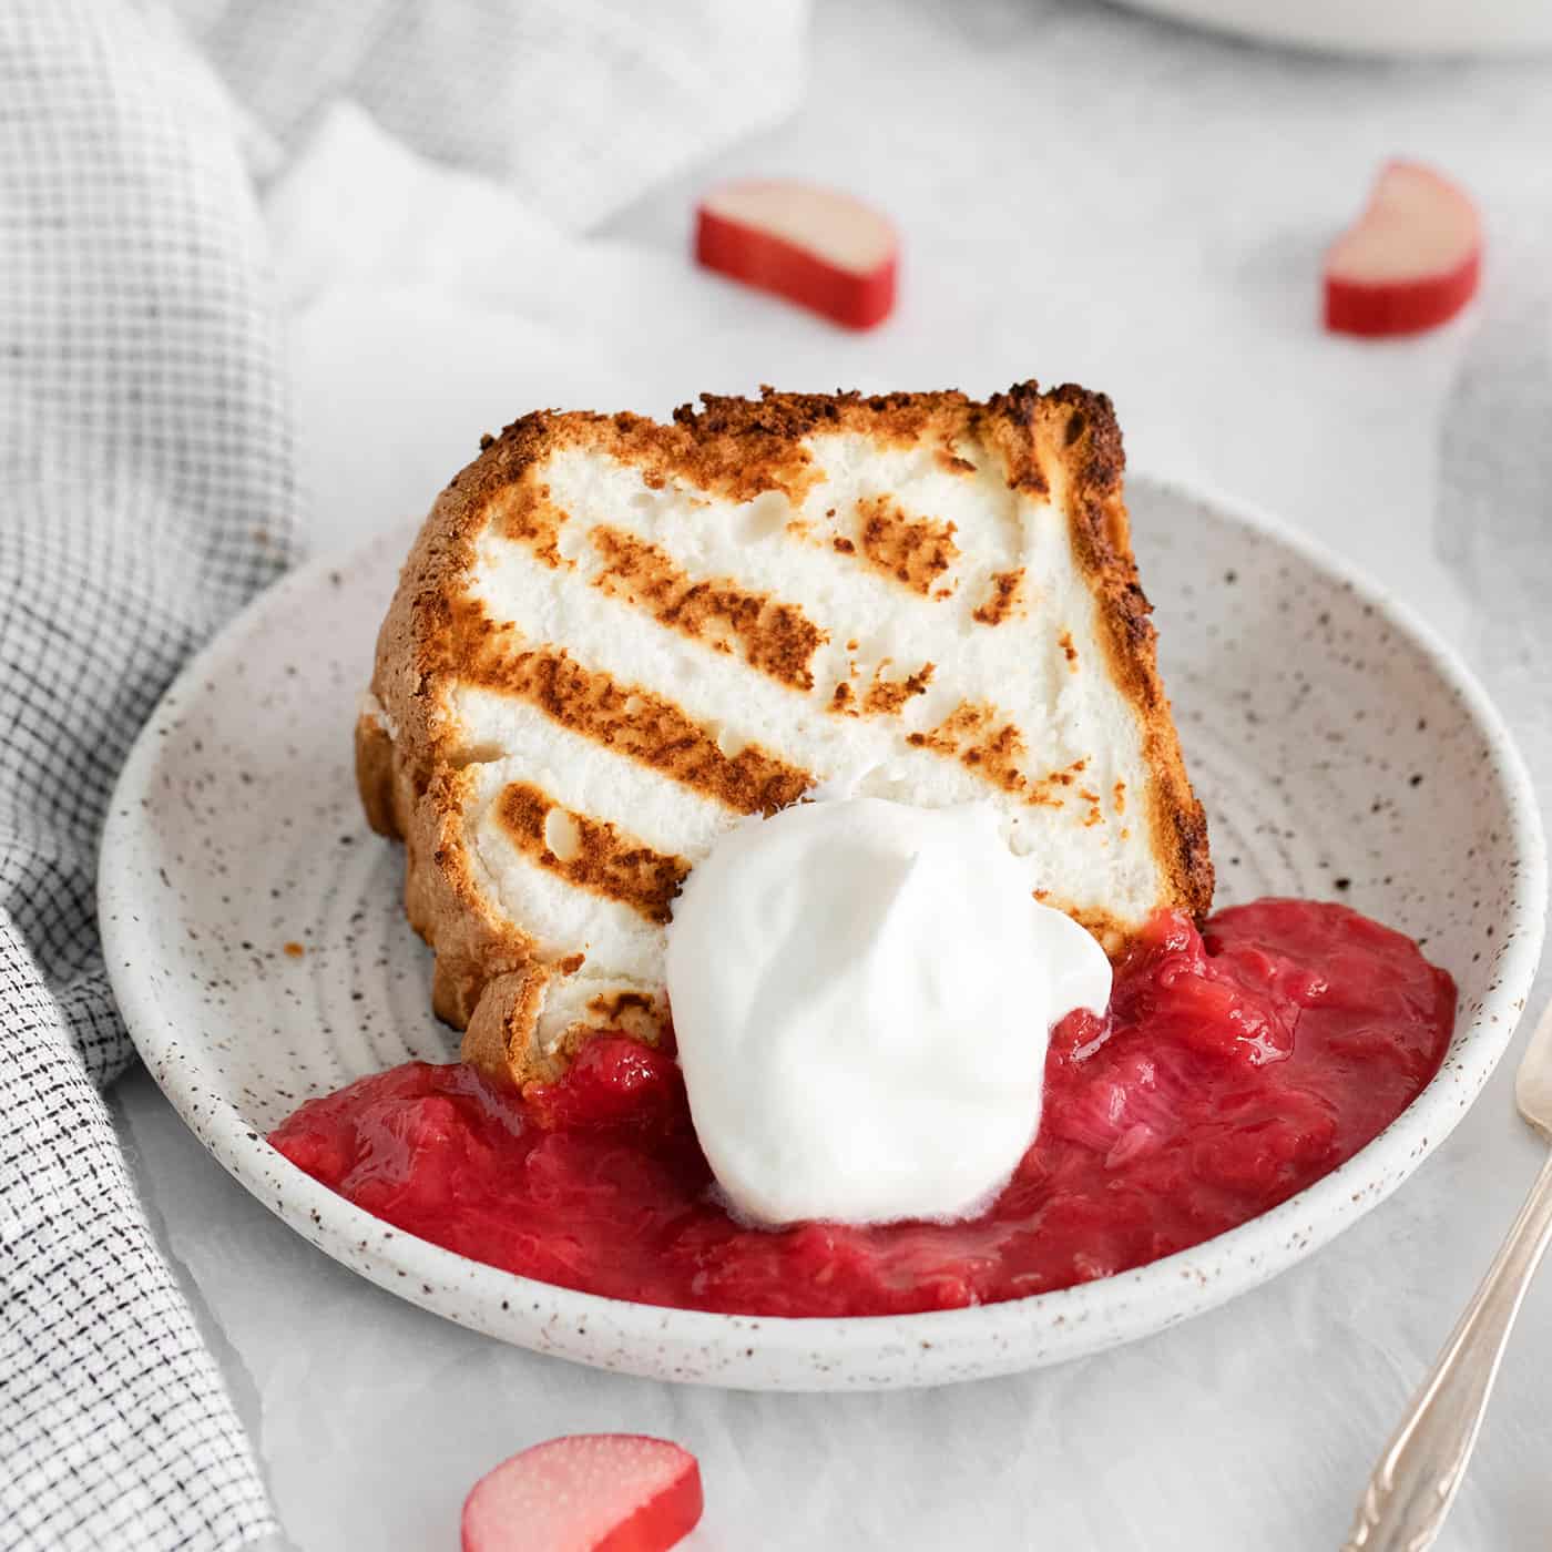
[[[731,577],[697,582],[666,551],[619,528],[598,526],[588,537],[604,562],[594,587],[723,652],[733,650],[731,636],[750,667],[793,689],[813,689],[810,664],[827,638],[795,604],[751,593]]]

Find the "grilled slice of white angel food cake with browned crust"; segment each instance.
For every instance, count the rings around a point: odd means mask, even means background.
[[[982,801],[1119,953],[1212,868],[1155,664],[1110,400],[706,397],[486,439],[400,576],[357,726],[464,1058],[556,1077],[669,1027],[664,930],[748,815]],[[1017,996],[1018,987],[1009,987]]]

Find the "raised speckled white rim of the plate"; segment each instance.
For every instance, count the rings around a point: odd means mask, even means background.
[[[102,837],[99,917],[113,990],[132,1038],[168,1099],[216,1159],[304,1238],[379,1287],[433,1313],[535,1352],[653,1378],[742,1389],[866,1391],[942,1384],[1038,1367],[1164,1330],[1259,1287],[1329,1243],[1391,1195],[1450,1135],[1507,1048],[1541,953],[1546,850],[1524,762],[1474,675],[1437,633],[1383,587],[1322,545],[1238,500],[1200,486],[1135,476],[1162,497],[1200,504],[1350,588],[1408,638],[1460,698],[1493,751],[1521,868],[1504,919],[1496,984],[1451,1058],[1367,1147],[1271,1212],[1136,1271],[1054,1293],[928,1315],[784,1319],[711,1315],[605,1299],[472,1262],[393,1229],[289,1164],[227,1100],[200,1088],[196,1062],[169,1062],[178,1040],[132,965],[129,927],[141,899],[127,829],[157,765],[161,731],[183,702],[262,638],[296,594],[326,584],[349,557],[318,557],[261,594],[178,675],[120,776]],[[379,537],[366,551],[397,542]],[[186,1052],[185,1052],[186,1057]],[[213,1102],[214,1099],[214,1102]]]

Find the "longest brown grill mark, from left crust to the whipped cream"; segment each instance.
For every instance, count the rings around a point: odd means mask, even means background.
[[[809,771],[757,743],[723,754],[711,733],[644,686],[621,684],[559,647],[521,646],[517,627],[490,619],[475,599],[461,599],[450,613],[445,669],[462,683],[517,695],[562,728],[734,813],[774,813],[815,784]]]

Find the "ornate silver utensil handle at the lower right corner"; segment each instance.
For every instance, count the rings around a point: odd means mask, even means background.
[[[1342,1552],[1423,1552],[1454,1502],[1504,1344],[1552,1242],[1552,1155],[1369,1478]]]

